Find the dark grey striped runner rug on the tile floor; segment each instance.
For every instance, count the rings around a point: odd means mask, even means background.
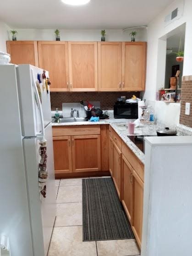
[[[82,179],[82,222],[83,241],[134,238],[112,178]]]

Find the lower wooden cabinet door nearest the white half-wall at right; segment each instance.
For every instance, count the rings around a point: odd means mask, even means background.
[[[132,208],[132,230],[137,239],[138,245],[141,248],[142,239],[142,223],[143,223],[143,181],[132,170],[132,185],[133,185],[133,208]]]

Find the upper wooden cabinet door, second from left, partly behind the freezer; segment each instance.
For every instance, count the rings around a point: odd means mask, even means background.
[[[39,67],[49,71],[50,91],[69,91],[67,42],[38,41]]]

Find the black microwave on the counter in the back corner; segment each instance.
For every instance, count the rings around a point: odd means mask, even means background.
[[[115,104],[113,109],[115,118],[138,118],[138,103]]]

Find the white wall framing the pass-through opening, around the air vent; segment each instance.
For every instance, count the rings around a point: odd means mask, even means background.
[[[165,27],[165,16],[176,8],[183,15]],[[156,91],[165,82],[165,35],[186,22],[183,76],[192,75],[192,0],[175,0],[165,11],[148,24],[148,56],[144,99],[155,100]]]

